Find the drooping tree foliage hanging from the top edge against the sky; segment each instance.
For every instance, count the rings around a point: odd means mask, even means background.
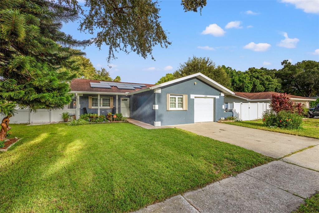
[[[136,52],[146,58],[152,55],[153,47],[167,48],[167,33],[159,21],[159,5],[152,0],[84,0],[86,11],[78,0],[58,0],[77,9],[83,19],[79,29],[94,35],[94,43],[101,48],[108,45],[108,62],[115,52]],[[182,0],[184,11],[200,12],[206,0]]]

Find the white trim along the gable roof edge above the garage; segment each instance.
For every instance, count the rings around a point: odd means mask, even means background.
[[[149,89],[153,90],[153,89],[156,89],[156,88],[167,86],[167,85],[172,84],[172,83],[178,83],[180,81],[184,81],[184,80],[187,80],[189,78],[194,78],[194,77],[197,77],[199,80],[202,80],[203,82],[205,82],[205,83],[217,88],[218,90],[220,90],[222,92],[225,92],[226,95],[234,95],[235,94],[234,92],[228,90],[223,85],[217,83],[216,81],[213,81],[212,79],[210,79],[209,77],[207,77],[206,75],[204,75],[202,73],[195,73],[193,75],[188,75],[188,76],[185,76],[185,77],[182,77],[182,78],[177,78],[177,79],[174,79],[172,81],[165,82],[165,83],[160,83],[160,84],[157,84],[157,85],[149,87]],[[142,89],[142,90],[139,90],[137,92],[131,92],[130,94],[135,94],[135,93],[138,93],[138,92],[147,91],[146,89]]]

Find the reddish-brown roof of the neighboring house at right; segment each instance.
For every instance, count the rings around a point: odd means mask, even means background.
[[[271,99],[272,95],[280,94],[279,92],[235,92],[234,96],[248,99],[248,100],[268,100]],[[287,95],[292,100],[315,100],[309,97],[302,97],[297,95]]]

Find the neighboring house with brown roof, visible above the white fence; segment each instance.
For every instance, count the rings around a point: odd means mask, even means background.
[[[225,103],[242,102],[242,103],[270,103],[272,95],[280,94],[278,92],[235,92],[234,95],[226,95]],[[309,108],[309,101],[315,99],[309,97],[301,97],[296,95],[288,95],[293,102],[303,103]]]

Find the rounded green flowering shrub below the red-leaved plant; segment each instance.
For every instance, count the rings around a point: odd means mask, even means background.
[[[281,110],[278,113],[273,110],[267,110],[263,113],[263,123],[268,127],[300,129],[302,128],[302,115],[285,110]]]

